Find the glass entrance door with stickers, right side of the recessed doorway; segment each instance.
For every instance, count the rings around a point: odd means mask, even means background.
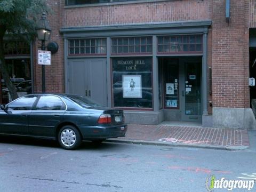
[[[202,59],[180,59],[181,121],[202,121]]]

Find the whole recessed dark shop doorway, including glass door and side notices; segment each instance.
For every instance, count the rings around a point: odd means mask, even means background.
[[[164,120],[202,122],[202,57],[163,57],[158,64]]]

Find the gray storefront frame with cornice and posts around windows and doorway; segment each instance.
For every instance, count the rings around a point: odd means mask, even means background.
[[[180,21],[180,22],[164,22],[164,23],[139,23],[132,25],[110,25],[110,26],[86,26],[86,27],[63,27],[60,32],[64,37],[64,58],[65,58],[65,91],[67,92],[67,62],[68,62],[68,40],[74,38],[107,38],[107,54],[104,58],[107,58],[107,97],[111,98],[111,75],[110,75],[110,58],[111,53],[111,37],[134,37],[134,36],[152,36],[153,37],[153,98],[154,98],[154,111],[126,111],[133,117],[138,118],[139,114],[145,114],[145,123],[158,124],[163,121],[163,111],[159,111],[158,103],[158,54],[157,54],[157,36],[160,35],[203,35],[203,53],[199,54],[171,54],[172,56],[186,56],[197,55],[202,56],[202,96],[203,96],[203,123],[204,117],[208,118],[207,113],[207,34],[208,29],[211,26],[211,20],[204,21]],[[161,57],[164,56],[161,54]],[[170,56],[170,54],[166,54]],[[80,56],[76,56],[79,58]],[[81,56],[82,58],[90,57],[102,57],[101,56]],[[111,99],[108,99],[108,107],[111,107]],[[128,115],[129,116],[129,115]],[[149,121],[150,119],[150,121]],[[136,120],[134,120],[136,121]],[[148,123],[148,121],[150,123]],[[134,122],[133,122],[134,123]],[[143,122],[137,122],[143,123]]]

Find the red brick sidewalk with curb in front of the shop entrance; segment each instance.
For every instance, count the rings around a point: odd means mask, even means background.
[[[129,124],[126,137],[108,139],[108,141],[226,150],[241,150],[247,149],[250,146],[247,130],[205,128],[198,125],[184,126],[175,124]]]

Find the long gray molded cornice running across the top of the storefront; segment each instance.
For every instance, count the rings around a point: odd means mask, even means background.
[[[204,33],[211,25],[206,21],[180,21],[169,23],[139,23],[132,25],[65,27],[60,29],[65,38],[134,36],[134,35],[182,35]]]

